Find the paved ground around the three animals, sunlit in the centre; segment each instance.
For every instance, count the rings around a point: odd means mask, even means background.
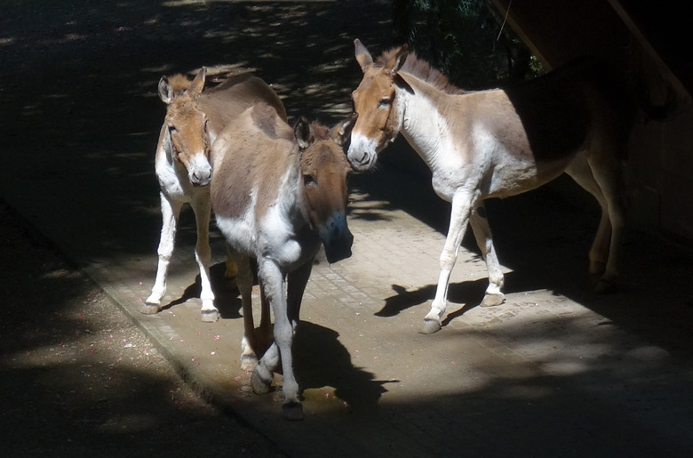
[[[387,4],[358,2],[20,2],[0,36],[0,196],[197,393],[283,454],[690,456],[693,256],[631,230],[621,291],[594,295],[585,259],[597,215],[557,191],[574,190],[568,181],[488,205],[506,303],[476,306],[486,273],[467,239],[444,327],[422,335],[449,207],[426,177],[393,165],[411,154],[401,141],[377,172],[354,176],[354,254],[334,265],[318,259],[301,312],[304,422],[282,420],[281,376],[277,390],[257,396],[240,370],[240,301],[223,278],[217,232],[221,319],[200,321],[191,213],[181,218],[167,306],[137,311],[154,280],[160,228],[158,78],[200,65],[252,67],[291,117],[335,122],[360,77],[351,41],[382,49],[388,19]]]

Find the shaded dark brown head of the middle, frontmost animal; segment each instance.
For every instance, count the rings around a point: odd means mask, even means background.
[[[352,167],[342,147],[355,120],[356,115],[352,115],[330,129],[301,117],[294,127],[308,218],[331,263],[351,256],[354,242],[346,224],[346,176]]]

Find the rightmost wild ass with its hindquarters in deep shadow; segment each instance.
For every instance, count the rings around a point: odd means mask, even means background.
[[[515,87],[465,92],[406,45],[374,61],[359,40],[354,44],[363,71],[352,94],[358,119],[348,158],[354,170],[370,169],[378,152],[402,133],[431,169],[436,194],[452,206],[422,333],[441,328],[467,223],[489,271],[482,305],[505,301],[484,199],[535,189],[563,172],[601,205],[589,270],[599,278],[597,291],[613,288],[625,218],[622,165],[634,110],[599,60],[577,60]]]

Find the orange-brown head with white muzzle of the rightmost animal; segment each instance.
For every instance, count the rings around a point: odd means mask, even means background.
[[[354,170],[365,171],[376,164],[378,153],[400,132],[402,117],[397,108],[395,87],[402,83],[397,72],[402,68],[409,48],[404,44],[374,62],[358,39],[354,45],[363,78],[352,92],[358,120],[351,134],[347,156]]]

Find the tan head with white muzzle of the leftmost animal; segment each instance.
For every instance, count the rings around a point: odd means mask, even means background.
[[[168,107],[164,121],[163,148],[187,170],[190,182],[206,186],[211,180],[207,117],[197,105],[207,70],[202,68],[193,81],[185,76],[162,76],[159,98]]]

